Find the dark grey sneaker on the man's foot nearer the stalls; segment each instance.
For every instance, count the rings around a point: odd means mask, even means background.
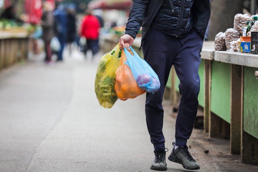
[[[173,143],[175,147],[175,143]],[[200,169],[200,165],[194,160],[188,151],[187,146],[179,146],[176,150],[173,148],[171,154],[168,157],[169,160],[175,163],[182,164],[183,167],[187,170],[198,170]]]

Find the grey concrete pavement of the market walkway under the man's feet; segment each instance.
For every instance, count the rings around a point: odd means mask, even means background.
[[[64,62],[46,65],[43,56],[0,71],[1,172],[145,172],[154,158],[145,124],[145,96],[98,103],[94,61],[65,51]],[[163,133],[172,149],[175,119],[164,101]],[[189,151],[197,171],[258,171],[229,154],[228,139],[209,139],[194,129]],[[209,153],[204,153],[209,150]],[[189,171],[167,159],[168,171]]]

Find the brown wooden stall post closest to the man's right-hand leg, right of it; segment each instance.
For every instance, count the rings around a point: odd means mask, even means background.
[[[204,132],[209,131],[209,112],[210,112],[210,85],[211,85],[211,61],[204,61],[204,119],[203,129]]]

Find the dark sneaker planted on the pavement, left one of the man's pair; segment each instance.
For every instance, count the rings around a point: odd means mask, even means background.
[[[164,149],[155,150],[155,159],[152,161],[150,169],[164,171],[167,170],[166,152]]]

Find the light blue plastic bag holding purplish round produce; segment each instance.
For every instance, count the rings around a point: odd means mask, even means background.
[[[141,89],[146,90],[148,93],[155,93],[160,88],[158,75],[145,60],[139,57],[131,46],[130,49],[134,55],[124,48],[127,59],[125,64],[132,70],[134,79]]]

